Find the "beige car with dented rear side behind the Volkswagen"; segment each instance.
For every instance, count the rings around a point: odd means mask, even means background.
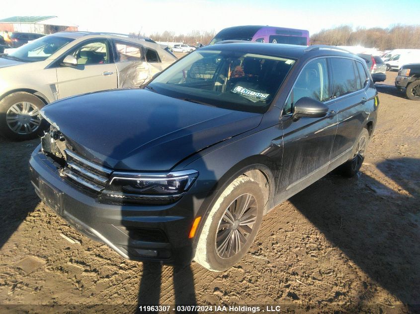
[[[139,87],[175,60],[148,38],[89,32],[38,38],[0,58],[0,132],[16,140],[36,137],[48,126],[39,116],[46,104]]]

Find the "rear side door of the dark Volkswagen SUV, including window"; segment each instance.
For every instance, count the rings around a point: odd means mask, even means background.
[[[368,75],[365,66],[351,58],[329,58],[333,98],[327,102],[338,117],[338,128],[331,150],[332,166],[346,161],[368,116],[365,110],[365,84]],[[360,74],[359,74],[360,71]],[[352,157],[352,156],[350,156]]]

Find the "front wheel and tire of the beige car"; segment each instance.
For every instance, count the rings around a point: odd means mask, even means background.
[[[1,133],[13,140],[37,137],[48,126],[39,114],[44,106],[41,99],[26,92],[7,95],[0,101]]]

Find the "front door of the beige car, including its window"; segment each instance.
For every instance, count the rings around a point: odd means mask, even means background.
[[[107,39],[92,39],[74,48],[77,66],[57,67],[57,86],[60,99],[117,88],[117,73]],[[66,56],[64,56],[66,57]],[[62,57],[64,59],[64,57]]]

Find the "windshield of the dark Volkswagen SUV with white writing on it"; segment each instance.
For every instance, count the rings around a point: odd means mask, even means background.
[[[169,97],[263,113],[294,60],[237,51],[198,50],[147,85]]]

